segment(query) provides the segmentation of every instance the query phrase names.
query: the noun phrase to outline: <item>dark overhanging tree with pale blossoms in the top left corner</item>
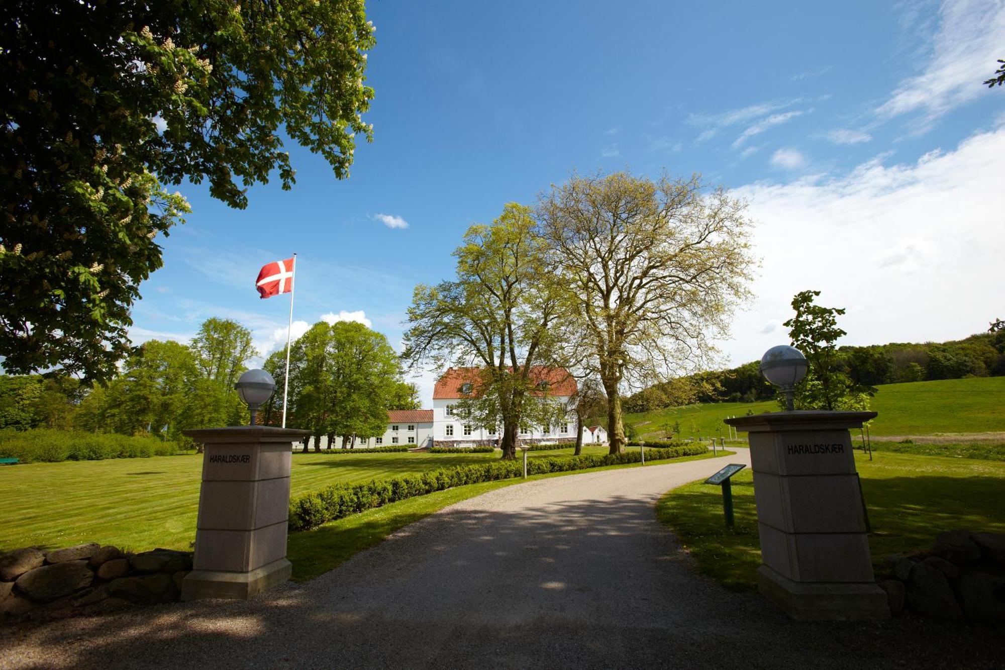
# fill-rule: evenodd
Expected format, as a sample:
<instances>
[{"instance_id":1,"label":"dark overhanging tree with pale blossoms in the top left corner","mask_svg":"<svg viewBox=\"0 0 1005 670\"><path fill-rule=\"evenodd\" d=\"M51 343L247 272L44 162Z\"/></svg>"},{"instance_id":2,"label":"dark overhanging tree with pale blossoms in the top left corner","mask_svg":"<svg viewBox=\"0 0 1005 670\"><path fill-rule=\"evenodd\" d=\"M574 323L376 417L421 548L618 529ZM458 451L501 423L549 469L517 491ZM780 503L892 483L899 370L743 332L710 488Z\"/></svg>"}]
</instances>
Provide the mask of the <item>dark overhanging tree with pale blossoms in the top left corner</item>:
<instances>
[{"instance_id":1,"label":"dark overhanging tree with pale blossoms in the top left corner","mask_svg":"<svg viewBox=\"0 0 1005 670\"><path fill-rule=\"evenodd\" d=\"M286 135L349 175L374 45L363 0L0 3L0 356L109 379L157 239L209 182L230 206Z\"/></svg>"}]
</instances>

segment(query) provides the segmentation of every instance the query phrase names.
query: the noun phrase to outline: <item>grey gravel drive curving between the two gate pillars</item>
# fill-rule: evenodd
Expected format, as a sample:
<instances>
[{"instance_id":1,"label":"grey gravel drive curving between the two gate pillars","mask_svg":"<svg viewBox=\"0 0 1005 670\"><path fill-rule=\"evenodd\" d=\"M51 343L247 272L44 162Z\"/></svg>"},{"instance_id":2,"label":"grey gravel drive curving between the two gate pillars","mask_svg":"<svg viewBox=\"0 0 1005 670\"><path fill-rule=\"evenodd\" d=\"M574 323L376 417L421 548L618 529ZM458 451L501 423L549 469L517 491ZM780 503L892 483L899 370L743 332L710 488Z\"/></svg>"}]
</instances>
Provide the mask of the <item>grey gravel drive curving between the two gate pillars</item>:
<instances>
[{"instance_id":1,"label":"grey gravel drive curving between the two gate pillars","mask_svg":"<svg viewBox=\"0 0 1005 670\"><path fill-rule=\"evenodd\" d=\"M2 668L1005 667L1000 631L791 622L696 575L653 503L735 456L511 486L306 584L8 631Z\"/></svg>"}]
</instances>

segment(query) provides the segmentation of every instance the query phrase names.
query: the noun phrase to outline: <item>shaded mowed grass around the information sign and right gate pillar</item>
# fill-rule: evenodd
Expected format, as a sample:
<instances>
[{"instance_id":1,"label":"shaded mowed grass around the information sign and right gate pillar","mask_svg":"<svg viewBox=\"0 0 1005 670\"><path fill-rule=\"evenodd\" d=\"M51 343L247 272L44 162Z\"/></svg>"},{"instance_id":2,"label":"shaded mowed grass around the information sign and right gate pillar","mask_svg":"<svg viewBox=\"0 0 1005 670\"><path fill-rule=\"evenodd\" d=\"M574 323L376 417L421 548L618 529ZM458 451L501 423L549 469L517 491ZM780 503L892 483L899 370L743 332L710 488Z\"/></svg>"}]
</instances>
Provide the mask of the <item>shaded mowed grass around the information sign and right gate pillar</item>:
<instances>
[{"instance_id":1,"label":"shaded mowed grass around the information sign and right gate pillar","mask_svg":"<svg viewBox=\"0 0 1005 670\"><path fill-rule=\"evenodd\" d=\"M1005 532L1005 463L876 452L855 455L869 521L872 562L891 553L929 548L944 530ZM754 481L750 469L733 477L736 524L726 527L719 486L693 482L656 506L694 557L697 568L735 591L757 585L761 564Z\"/></svg>"}]
</instances>

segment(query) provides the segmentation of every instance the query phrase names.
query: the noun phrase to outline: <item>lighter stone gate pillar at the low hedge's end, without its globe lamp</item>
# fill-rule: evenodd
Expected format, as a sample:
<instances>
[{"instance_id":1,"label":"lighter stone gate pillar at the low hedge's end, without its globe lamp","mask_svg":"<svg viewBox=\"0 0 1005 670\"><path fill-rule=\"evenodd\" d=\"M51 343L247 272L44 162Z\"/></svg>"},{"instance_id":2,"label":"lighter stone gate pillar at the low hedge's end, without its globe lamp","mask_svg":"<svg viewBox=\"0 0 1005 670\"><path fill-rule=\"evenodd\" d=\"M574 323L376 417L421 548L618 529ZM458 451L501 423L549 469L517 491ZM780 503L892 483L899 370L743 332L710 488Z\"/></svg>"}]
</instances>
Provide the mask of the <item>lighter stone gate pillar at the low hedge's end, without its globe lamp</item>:
<instances>
[{"instance_id":1,"label":"lighter stone gate pillar at the low hedge's end, without its globe lamp","mask_svg":"<svg viewBox=\"0 0 1005 670\"><path fill-rule=\"evenodd\" d=\"M247 600L289 578L286 520L292 443L270 426L184 431L205 445L193 569L182 600Z\"/></svg>"}]
</instances>

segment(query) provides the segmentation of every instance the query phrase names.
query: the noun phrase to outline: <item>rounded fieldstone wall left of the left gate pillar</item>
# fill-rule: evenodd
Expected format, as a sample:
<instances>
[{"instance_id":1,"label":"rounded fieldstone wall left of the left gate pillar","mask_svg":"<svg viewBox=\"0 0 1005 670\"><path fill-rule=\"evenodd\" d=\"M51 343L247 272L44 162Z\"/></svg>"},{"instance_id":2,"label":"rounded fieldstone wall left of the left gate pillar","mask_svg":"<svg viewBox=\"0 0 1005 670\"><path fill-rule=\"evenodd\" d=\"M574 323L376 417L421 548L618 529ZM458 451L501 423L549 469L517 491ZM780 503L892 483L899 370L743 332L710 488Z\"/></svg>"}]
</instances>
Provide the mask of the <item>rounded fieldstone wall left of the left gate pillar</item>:
<instances>
[{"instance_id":1,"label":"rounded fieldstone wall left of the left gate pillar","mask_svg":"<svg viewBox=\"0 0 1005 670\"><path fill-rule=\"evenodd\" d=\"M134 604L179 600L192 553L154 549L126 553L96 543L0 555L0 614L65 617Z\"/></svg>"}]
</instances>

